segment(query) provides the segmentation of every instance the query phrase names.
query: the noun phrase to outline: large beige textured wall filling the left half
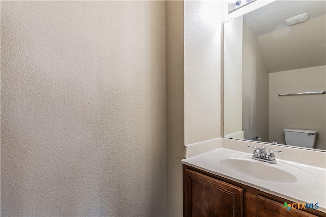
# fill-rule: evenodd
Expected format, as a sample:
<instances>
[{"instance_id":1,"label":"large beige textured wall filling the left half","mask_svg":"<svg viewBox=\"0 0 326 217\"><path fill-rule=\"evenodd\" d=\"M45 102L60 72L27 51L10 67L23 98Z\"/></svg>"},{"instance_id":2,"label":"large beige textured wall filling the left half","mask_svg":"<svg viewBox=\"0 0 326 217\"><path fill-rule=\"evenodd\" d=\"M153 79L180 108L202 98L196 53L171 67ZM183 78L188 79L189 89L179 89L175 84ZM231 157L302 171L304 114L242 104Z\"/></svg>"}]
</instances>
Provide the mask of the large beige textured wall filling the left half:
<instances>
[{"instance_id":1,"label":"large beige textured wall filling the left half","mask_svg":"<svg viewBox=\"0 0 326 217\"><path fill-rule=\"evenodd\" d=\"M1 214L166 216L164 1L1 1Z\"/></svg>"}]
</instances>

